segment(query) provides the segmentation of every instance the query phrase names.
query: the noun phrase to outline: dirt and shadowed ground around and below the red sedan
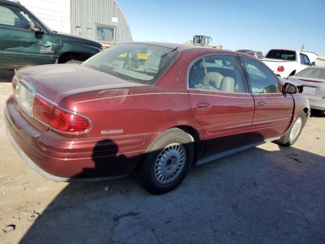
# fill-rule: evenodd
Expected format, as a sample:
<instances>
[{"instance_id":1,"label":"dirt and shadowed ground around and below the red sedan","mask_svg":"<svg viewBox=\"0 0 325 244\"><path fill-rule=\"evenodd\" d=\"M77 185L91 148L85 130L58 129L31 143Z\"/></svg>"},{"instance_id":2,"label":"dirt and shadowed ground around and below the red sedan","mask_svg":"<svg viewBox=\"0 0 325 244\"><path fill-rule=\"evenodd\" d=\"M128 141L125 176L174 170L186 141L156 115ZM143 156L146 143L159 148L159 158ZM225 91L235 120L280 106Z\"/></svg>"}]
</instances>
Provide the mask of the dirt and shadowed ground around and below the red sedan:
<instances>
[{"instance_id":1,"label":"dirt and shadowed ground around and below the red sedan","mask_svg":"<svg viewBox=\"0 0 325 244\"><path fill-rule=\"evenodd\" d=\"M131 177L68 184L30 169L4 131L11 77L0 71L0 243L325 243L324 115L292 147L196 167L153 196Z\"/></svg>"}]
</instances>

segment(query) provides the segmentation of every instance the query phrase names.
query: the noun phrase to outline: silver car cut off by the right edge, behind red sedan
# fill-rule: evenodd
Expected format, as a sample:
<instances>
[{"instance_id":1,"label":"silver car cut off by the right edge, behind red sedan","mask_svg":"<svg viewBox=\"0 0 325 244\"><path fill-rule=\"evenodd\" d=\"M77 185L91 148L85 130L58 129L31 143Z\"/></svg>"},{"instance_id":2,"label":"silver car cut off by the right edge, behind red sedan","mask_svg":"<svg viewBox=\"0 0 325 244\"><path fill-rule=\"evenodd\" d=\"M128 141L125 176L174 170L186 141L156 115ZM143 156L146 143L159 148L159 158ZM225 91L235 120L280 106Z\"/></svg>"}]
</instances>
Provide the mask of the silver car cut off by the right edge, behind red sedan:
<instances>
[{"instance_id":1,"label":"silver car cut off by the right edge, behind red sedan","mask_svg":"<svg viewBox=\"0 0 325 244\"><path fill-rule=\"evenodd\" d=\"M303 93L308 97L310 108L325 110L325 67L308 67L287 78L304 85Z\"/></svg>"}]
</instances>

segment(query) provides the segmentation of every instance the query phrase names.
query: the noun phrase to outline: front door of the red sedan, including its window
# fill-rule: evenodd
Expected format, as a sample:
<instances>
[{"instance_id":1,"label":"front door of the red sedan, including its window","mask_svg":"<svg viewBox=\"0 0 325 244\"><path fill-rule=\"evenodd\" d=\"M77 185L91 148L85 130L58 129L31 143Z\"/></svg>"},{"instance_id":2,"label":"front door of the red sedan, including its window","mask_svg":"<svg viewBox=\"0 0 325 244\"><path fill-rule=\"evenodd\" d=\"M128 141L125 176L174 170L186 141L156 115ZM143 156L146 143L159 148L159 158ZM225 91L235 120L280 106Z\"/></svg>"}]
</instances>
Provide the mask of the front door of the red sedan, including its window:
<instances>
[{"instance_id":1,"label":"front door of the red sedan, including its window","mask_svg":"<svg viewBox=\"0 0 325 244\"><path fill-rule=\"evenodd\" d=\"M281 136L293 117L293 97L280 92L277 77L263 63L244 56L240 59L255 102L253 123L246 143L254 144Z\"/></svg>"}]
</instances>

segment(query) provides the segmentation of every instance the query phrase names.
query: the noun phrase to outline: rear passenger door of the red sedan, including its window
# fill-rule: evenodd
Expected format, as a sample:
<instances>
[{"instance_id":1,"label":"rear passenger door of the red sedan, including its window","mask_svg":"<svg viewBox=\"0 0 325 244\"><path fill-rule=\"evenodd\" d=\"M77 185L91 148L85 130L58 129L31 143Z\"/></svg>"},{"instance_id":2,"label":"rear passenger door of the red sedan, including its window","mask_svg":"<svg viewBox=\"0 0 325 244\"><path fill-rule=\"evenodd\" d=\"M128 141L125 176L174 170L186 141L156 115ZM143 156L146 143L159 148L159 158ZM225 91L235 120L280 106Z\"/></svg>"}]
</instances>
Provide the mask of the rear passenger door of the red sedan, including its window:
<instances>
[{"instance_id":1,"label":"rear passenger door of the red sedan, including its window","mask_svg":"<svg viewBox=\"0 0 325 244\"><path fill-rule=\"evenodd\" d=\"M188 93L194 119L204 129L204 156L240 147L252 124L254 100L237 55L206 55L188 73Z\"/></svg>"}]
</instances>

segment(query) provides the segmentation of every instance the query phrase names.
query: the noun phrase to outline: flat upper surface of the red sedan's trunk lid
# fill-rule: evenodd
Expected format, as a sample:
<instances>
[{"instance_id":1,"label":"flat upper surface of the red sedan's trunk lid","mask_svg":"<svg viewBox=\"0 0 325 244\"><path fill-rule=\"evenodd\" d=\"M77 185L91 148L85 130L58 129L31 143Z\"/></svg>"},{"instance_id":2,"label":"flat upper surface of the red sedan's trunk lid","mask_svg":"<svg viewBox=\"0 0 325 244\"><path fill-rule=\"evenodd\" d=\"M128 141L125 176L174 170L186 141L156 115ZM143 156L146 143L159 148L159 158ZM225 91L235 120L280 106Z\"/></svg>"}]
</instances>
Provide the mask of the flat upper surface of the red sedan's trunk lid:
<instances>
[{"instance_id":1,"label":"flat upper surface of the red sedan's trunk lid","mask_svg":"<svg viewBox=\"0 0 325 244\"><path fill-rule=\"evenodd\" d=\"M75 94L145 85L75 64L31 67L19 73L39 94L56 104Z\"/></svg>"}]
</instances>

